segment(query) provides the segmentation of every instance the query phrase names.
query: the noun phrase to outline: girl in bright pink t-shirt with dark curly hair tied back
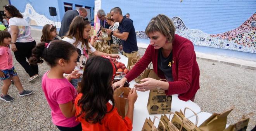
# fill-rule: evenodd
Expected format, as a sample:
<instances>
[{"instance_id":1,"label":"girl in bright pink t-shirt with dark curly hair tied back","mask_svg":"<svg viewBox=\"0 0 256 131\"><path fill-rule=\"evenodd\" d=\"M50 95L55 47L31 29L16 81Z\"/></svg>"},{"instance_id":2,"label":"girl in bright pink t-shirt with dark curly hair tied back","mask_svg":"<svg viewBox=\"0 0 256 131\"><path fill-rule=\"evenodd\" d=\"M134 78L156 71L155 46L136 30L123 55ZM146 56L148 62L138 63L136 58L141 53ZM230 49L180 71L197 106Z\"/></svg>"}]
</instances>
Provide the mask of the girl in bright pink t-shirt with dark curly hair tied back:
<instances>
[{"instance_id":1,"label":"girl in bright pink t-shirt with dark curly hair tied back","mask_svg":"<svg viewBox=\"0 0 256 131\"><path fill-rule=\"evenodd\" d=\"M42 77L42 89L50 106L52 123L61 131L81 131L81 123L76 122L76 109L74 100L78 92L72 84L63 76L74 74L71 79L77 79L76 59L78 53L76 47L63 40L52 40L50 43L41 42L32 50L31 64L43 63L44 59L50 65Z\"/></svg>"}]
</instances>

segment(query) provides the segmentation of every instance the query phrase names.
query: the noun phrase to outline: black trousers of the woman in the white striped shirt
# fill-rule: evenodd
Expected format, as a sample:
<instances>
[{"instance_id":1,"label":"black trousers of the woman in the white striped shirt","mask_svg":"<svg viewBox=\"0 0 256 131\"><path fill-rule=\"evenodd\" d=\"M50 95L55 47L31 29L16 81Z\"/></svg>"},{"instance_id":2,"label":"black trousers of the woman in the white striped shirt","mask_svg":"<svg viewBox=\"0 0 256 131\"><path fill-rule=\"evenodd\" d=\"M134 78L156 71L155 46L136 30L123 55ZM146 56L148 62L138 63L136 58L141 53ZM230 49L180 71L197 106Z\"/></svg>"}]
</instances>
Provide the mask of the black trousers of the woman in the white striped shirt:
<instances>
[{"instance_id":1,"label":"black trousers of the woman in the white striped shirt","mask_svg":"<svg viewBox=\"0 0 256 131\"><path fill-rule=\"evenodd\" d=\"M30 65L27 62L27 59L32 55L32 49L36 46L36 41L32 42L16 42L17 51L14 52L16 60L21 64L21 66L25 69L25 71L29 74L30 77L38 74L38 66Z\"/></svg>"}]
</instances>

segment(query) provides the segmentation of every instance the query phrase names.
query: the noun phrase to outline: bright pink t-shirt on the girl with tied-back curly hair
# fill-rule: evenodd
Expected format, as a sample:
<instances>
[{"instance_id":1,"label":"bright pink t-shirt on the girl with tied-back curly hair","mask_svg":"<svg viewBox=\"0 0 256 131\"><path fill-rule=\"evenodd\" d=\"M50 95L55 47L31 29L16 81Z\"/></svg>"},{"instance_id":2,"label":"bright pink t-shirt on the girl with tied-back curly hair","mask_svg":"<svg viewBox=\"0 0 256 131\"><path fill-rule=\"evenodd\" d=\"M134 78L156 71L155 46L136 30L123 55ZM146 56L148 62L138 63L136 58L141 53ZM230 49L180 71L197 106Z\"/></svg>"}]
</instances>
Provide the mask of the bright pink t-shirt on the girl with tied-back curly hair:
<instances>
[{"instance_id":1,"label":"bright pink t-shirt on the girl with tied-back curly hair","mask_svg":"<svg viewBox=\"0 0 256 131\"><path fill-rule=\"evenodd\" d=\"M74 86L66 79L50 79L47 77L47 71L42 78L42 89L52 111L52 123L57 126L74 127L80 122L76 122L76 117L66 118L59 107L59 104L65 104L74 100L77 96L77 91Z\"/></svg>"}]
</instances>

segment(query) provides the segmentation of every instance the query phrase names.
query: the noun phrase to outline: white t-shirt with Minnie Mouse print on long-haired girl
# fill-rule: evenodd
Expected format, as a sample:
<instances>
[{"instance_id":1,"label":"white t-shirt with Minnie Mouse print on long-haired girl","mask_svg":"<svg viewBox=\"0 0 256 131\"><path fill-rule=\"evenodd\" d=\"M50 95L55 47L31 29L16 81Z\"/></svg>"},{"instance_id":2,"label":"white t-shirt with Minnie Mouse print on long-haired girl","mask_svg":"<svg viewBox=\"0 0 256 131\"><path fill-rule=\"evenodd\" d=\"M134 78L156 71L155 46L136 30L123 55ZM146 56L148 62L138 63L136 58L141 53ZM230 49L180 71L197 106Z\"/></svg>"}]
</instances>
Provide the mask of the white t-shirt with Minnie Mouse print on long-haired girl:
<instances>
[{"instance_id":1,"label":"white t-shirt with Minnie Mouse print on long-haired girl","mask_svg":"<svg viewBox=\"0 0 256 131\"><path fill-rule=\"evenodd\" d=\"M68 38L68 37L64 37L62 40L69 42L70 44L74 44L74 42L76 41L76 38ZM86 61L89 58L88 52L93 53L96 51L95 48L92 47L92 45L89 43L88 44L90 49L87 49L86 46L84 46L82 48L82 42L80 42L77 46L77 52L78 52L78 59L77 59L77 66L75 67L74 70L79 70L79 73L83 74L83 70L86 64Z\"/></svg>"}]
</instances>

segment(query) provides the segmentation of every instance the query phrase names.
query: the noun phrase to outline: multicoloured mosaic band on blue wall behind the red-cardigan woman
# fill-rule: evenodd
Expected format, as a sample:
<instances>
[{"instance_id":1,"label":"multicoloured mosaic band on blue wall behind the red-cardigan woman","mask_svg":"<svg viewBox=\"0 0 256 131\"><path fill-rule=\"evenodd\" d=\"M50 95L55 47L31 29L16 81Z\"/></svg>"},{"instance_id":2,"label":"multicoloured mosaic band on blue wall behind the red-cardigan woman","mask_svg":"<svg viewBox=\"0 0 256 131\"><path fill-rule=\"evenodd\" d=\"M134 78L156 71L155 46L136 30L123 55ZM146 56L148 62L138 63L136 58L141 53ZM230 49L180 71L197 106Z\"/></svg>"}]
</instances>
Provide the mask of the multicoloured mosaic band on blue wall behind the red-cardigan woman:
<instances>
[{"instance_id":1,"label":"multicoloured mosaic band on blue wall behind the red-cardigan woman","mask_svg":"<svg viewBox=\"0 0 256 131\"><path fill-rule=\"evenodd\" d=\"M222 34L206 34L201 30L188 29L179 17L171 18L175 34L185 37L194 45L256 53L256 13L239 27ZM136 31L137 38L149 39L144 31Z\"/></svg>"}]
</instances>

